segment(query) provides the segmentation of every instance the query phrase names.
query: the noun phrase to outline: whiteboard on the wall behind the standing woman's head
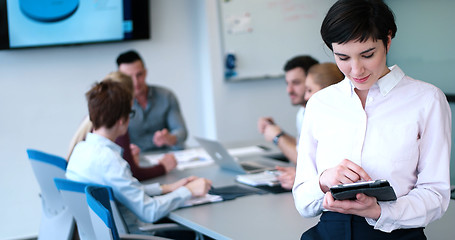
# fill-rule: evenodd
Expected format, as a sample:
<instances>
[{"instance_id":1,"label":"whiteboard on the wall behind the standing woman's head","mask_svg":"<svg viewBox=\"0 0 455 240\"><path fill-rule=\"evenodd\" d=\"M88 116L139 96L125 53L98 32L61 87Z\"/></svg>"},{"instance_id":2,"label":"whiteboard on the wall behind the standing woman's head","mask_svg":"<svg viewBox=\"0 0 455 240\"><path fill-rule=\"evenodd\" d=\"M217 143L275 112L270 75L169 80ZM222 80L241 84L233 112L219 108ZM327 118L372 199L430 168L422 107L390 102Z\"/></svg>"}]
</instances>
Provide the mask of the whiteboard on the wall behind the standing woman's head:
<instances>
[{"instance_id":1,"label":"whiteboard on the wall behind the standing woman's head","mask_svg":"<svg viewBox=\"0 0 455 240\"><path fill-rule=\"evenodd\" d=\"M229 81L280 78L290 58L308 54L333 62L322 41L322 20L335 0L224 0L220 24L224 57L235 56L226 69Z\"/></svg>"}]
</instances>

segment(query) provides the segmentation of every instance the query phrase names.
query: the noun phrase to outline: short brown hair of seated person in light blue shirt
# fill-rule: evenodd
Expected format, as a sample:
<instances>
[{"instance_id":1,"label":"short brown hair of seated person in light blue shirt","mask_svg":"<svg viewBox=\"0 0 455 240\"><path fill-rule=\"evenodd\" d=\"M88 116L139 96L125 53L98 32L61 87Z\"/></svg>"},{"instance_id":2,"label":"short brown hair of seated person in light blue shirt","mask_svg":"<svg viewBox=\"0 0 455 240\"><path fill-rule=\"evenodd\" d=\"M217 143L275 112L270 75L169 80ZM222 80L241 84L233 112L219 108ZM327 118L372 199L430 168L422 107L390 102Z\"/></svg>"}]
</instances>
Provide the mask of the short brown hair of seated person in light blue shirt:
<instances>
[{"instance_id":1,"label":"short brown hair of seated person in light blue shirt","mask_svg":"<svg viewBox=\"0 0 455 240\"><path fill-rule=\"evenodd\" d=\"M132 94L121 83L105 79L96 83L86 94L93 128L112 128L121 119L128 119Z\"/></svg>"}]
</instances>

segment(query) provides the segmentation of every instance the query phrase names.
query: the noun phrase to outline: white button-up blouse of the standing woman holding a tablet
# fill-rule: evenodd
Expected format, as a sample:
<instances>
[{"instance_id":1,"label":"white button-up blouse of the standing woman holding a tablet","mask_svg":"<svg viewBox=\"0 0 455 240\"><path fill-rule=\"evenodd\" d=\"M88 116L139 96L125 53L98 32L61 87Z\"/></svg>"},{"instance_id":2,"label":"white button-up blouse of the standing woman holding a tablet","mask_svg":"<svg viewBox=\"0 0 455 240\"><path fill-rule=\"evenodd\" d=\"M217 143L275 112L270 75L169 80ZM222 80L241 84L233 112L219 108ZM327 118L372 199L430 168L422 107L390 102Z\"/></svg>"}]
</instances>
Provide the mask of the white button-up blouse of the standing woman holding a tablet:
<instances>
[{"instance_id":1,"label":"white button-up blouse of the standing woman holding a tablet","mask_svg":"<svg viewBox=\"0 0 455 240\"><path fill-rule=\"evenodd\" d=\"M424 227L450 201L451 112L444 93L393 66L368 93L365 109L350 80L315 93L300 135L295 205L319 215L320 174L349 159L372 179L387 179L398 197L379 202L381 216L367 222L385 232Z\"/></svg>"}]
</instances>

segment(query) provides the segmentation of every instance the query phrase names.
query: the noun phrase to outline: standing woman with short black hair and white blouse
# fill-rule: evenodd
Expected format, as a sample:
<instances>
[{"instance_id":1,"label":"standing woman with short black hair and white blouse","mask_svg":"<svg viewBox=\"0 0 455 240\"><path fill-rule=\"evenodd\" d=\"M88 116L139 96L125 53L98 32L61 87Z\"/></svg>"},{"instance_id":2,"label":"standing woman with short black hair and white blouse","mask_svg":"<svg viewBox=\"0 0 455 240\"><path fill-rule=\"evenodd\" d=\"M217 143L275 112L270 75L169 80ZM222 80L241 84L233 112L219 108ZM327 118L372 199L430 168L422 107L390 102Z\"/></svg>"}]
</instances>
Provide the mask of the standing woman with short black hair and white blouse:
<instances>
[{"instance_id":1,"label":"standing woman with short black hair and white blouse","mask_svg":"<svg viewBox=\"0 0 455 240\"><path fill-rule=\"evenodd\" d=\"M321 35L345 79L308 101L300 138L295 204L322 213L302 239L426 239L423 228L450 201L451 113L444 93L387 67L397 27L381 0L339 0ZM330 187L386 179L395 201Z\"/></svg>"}]
</instances>

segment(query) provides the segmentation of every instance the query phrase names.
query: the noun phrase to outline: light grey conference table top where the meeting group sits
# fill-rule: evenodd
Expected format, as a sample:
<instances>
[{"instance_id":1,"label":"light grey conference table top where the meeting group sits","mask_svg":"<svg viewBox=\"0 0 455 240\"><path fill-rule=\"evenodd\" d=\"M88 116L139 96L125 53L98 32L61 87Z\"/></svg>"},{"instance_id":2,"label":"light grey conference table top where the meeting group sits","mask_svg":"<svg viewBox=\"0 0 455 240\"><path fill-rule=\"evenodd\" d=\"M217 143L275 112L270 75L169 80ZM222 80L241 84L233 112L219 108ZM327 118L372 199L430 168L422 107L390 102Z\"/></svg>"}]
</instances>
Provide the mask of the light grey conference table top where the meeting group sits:
<instances>
[{"instance_id":1,"label":"light grey conference table top where the meeting group sits","mask_svg":"<svg viewBox=\"0 0 455 240\"><path fill-rule=\"evenodd\" d=\"M276 156L273 147L269 156ZM283 165L282 161L272 160ZM216 164L173 170L153 182L171 183L187 176L212 180L213 187L239 185L237 173L221 169ZM147 183L144 182L144 183ZM295 209L292 193L248 195L233 200L177 209L169 214L173 221L214 239L300 239L300 235L316 225L319 217L303 218ZM442 219L425 229L428 239L451 239L455 236L455 201L451 200Z\"/></svg>"}]
</instances>

